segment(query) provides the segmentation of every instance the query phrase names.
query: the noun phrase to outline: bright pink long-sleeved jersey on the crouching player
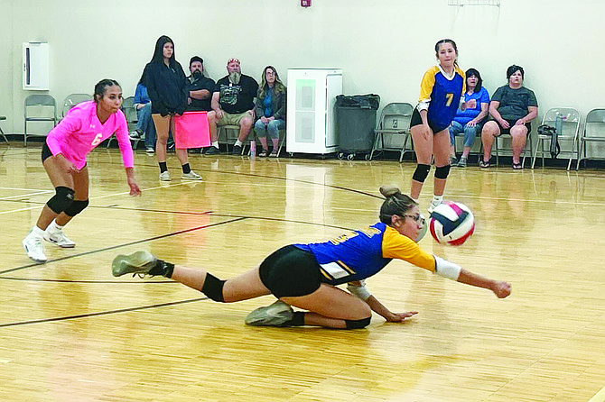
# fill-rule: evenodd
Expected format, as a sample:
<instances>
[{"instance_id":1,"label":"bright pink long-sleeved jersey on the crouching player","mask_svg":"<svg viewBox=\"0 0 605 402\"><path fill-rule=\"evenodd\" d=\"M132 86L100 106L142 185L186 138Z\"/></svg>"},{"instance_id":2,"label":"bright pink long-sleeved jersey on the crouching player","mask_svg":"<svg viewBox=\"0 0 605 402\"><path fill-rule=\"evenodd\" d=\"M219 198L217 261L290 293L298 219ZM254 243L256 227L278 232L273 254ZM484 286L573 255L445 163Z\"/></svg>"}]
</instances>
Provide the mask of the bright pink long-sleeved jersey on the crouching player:
<instances>
[{"instance_id":1,"label":"bright pink long-sleeved jersey on the crouching player","mask_svg":"<svg viewBox=\"0 0 605 402\"><path fill-rule=\"evenodd\" d=\"M82 169L86 165L88 153L103 140L111 137L114 132L122 152L124 166L133 168L133 149L130 146L124 113L118 110L109 116L107 122L101 124L97 116L97 104L94 101L73 106L61 123L49 132L46 143L52 155L62 153L76 169Z\"/></svg>"}]
</instances>

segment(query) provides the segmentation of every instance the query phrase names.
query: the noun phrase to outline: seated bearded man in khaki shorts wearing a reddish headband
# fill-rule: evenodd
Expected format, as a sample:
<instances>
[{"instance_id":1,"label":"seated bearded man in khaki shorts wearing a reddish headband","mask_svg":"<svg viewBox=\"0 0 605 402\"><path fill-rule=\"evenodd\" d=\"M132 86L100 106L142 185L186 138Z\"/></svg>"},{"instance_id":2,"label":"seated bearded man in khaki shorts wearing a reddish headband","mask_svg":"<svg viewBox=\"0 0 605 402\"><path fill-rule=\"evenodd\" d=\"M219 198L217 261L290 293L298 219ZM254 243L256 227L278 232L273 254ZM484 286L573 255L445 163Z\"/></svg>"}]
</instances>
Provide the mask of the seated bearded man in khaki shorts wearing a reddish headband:
<instances>
[{"instance_id":1,"label":"seated bearded man in khaki shorts wearing a reddish headband","mask_svg":"<svg viewBox=\"0 0 605 402\"><path fill-rule=\"evenodd\" d=\"M228 60L227 71L228 76L220 78L214 88L211 105L216 115L214 119L209 119L209 124L239 126L239 135L233 146L233 154L237 155L241 153L242 145L254 123L254 98L258 93L258 83L254 78L242 74L238 59ZM210 140L217 141L214 138Z\"/></svg>"}]
</instances>

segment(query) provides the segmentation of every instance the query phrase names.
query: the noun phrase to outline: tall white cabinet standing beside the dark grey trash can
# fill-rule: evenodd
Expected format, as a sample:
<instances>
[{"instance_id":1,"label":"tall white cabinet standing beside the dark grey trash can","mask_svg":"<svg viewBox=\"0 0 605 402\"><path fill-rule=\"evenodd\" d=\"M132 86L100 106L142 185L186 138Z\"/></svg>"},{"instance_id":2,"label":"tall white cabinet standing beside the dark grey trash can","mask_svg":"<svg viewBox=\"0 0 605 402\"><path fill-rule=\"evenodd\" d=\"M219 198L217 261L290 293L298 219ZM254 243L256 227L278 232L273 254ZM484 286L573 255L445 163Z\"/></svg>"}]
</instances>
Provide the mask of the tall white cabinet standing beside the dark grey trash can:
<instances>
[{"instance_id":1,"label":"tall white cabinet standing beside the dark grey trash can","mask_svg":"<svg viewBox=\"0 0 605 402\"><path fill-rule=\"evenodd\" d=\"M286 151L338 151L334 104L342 94L342 69L288 69L287 82Z\"/></svg>"}]
</instances>

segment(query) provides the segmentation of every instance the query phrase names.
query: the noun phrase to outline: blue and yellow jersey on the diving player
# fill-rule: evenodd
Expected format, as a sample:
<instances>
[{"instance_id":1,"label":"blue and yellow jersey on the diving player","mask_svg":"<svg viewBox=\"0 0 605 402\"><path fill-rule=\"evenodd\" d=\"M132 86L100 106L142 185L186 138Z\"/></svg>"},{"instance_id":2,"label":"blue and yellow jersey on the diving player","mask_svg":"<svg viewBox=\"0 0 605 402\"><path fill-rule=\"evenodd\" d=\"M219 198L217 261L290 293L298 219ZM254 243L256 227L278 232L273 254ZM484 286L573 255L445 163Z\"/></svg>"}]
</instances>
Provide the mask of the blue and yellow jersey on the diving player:
<instances>
[{"instance_id":1,"label":"blue and yellow jersey on the diving player","mask_svg":"<svg viewBox=\"0 0 605 402\"><path fill-rule=\"evenodd\" d=\"M386 224L345 233L328 242L294 244L310 251L320 265L323 282L330 285L371 277L391 260L405 260L424 270L435 270L433 255Z\"/></svg>"}]
</instances>

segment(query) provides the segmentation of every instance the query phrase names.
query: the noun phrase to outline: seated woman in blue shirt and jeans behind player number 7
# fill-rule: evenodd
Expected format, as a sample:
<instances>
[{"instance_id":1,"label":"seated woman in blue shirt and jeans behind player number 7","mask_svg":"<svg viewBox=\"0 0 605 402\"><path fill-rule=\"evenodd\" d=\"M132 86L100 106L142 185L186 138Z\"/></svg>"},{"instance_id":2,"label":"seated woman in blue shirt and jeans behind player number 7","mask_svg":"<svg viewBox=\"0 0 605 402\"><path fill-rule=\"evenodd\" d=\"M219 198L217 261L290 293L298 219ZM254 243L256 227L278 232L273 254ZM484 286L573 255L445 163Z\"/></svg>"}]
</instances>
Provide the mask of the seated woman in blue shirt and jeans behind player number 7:
<instances>
[{"instance_id":1,"label":"seated woman in blue shirt and jeans behind player number 7","mask_svg":"<svg viewBox=\"0 0 605 402\"><path fill-rule=\"evenodd\" d=\"M475 136L481 132L483 120L488 117L489 94L488 90L482 86L483 80L479 71L476 69L467 69L464 73L466 76L466 92L464 93L464 101L476 99L477 105L473 108L467 107L464 111L458 109L453 122L450 124L450 143L451 143L451 165L458 164L459 168L466 168L469 152L472 144L475 142ZM456 162L456 149L454 143L456 134L464 132L464 151L458 162Z\"/></svg>"}]
</instances>

